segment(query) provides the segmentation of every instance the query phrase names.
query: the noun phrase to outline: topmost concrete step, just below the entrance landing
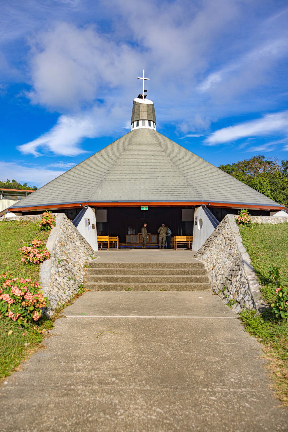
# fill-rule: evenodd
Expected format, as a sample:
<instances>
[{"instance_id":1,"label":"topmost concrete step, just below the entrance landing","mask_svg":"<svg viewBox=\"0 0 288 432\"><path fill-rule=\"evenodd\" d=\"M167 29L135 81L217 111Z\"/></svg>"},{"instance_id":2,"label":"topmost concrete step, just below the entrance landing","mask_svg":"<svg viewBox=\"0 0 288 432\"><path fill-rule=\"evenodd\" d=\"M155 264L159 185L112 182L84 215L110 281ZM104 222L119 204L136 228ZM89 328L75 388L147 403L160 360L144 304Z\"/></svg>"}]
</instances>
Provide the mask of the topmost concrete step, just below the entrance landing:
<instances>
[{"instance_id":1,"label":"topmost concrete step, just below the entrance landing","mask_svg":"<svg viewBox=\"0 0 288 432\"><path fill-rule=\"evenodd\" d=\"M90 268L122 268L122 269L203 269L204 263L101 263L100 260L89 261Z\"/></svg>"}]
</instances>

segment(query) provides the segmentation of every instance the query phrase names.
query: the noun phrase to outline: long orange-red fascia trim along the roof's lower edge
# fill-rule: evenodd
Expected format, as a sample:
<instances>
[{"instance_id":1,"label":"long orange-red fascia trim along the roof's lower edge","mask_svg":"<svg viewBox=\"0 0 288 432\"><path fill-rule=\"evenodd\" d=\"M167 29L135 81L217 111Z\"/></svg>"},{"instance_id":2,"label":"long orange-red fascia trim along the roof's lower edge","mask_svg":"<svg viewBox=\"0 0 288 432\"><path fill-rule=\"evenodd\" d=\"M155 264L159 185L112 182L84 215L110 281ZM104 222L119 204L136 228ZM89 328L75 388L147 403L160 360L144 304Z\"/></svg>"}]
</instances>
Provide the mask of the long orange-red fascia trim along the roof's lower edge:
<instances>
[{"instance_id":1,"label":"long orange-red fascia trim along the roof's lower edge","mask_svg":"<svg viewBox=\"0 0 288 432\"><path fill-rule=\"evenodd\" d=\"M56 206L51 206L49 207L49 205L46 206L35 206L35 207L17 207L17 208L9 208L8 210L10 211L14 211L14 212L19 212L19 211L37 211L37 210L60 210L60 209L77 209L79 207L84 207L85 205L88 205L90 207L138 207L138 206L160 206L160 207L182 207L182 206L189 206L189 207L193 207L193 206L200 206L201 204L205 204L208 208L209 207L222 207L222 208L228 208L228 209L243 209L244 207L247 209L251 209L251 210L265 210L265 211L273 211L273 210L288 210L285 206L259 206L259 205L244 205L244 204L230 204L230 203L209 203L208 205L208 201L182 201L182 202L139 202L139 203L131 203L131 202L127 202L127 203L123 203L123 202L110 202L110 203L71 203L71 204L58 204Z\"/></svg>"}]
</instances>

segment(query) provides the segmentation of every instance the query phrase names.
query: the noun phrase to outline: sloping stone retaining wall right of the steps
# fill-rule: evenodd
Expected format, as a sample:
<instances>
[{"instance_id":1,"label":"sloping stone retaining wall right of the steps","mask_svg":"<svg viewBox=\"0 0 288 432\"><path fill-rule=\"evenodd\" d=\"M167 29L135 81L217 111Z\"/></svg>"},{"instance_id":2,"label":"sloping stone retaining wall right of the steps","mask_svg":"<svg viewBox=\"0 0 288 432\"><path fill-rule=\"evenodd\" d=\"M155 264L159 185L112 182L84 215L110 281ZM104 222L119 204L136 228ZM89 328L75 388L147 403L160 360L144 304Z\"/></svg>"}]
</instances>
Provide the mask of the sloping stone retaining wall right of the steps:
<instances>
[{"instance_id":1,"label":"sloping stone retaining wall right of the steps","mask_svg":"<svg viewBox=\"0 0 288 432\"><path fill-rule=\"evenodd\" d=\"M287 217L250 216L252 223L283 223ZM251 266L249 254L242 243L235 215L226 215L195 258L203 260L208 268L212 289L225 303L239 312L266 307L260 299L260 284Z\"/></svg>"}]
</instances>

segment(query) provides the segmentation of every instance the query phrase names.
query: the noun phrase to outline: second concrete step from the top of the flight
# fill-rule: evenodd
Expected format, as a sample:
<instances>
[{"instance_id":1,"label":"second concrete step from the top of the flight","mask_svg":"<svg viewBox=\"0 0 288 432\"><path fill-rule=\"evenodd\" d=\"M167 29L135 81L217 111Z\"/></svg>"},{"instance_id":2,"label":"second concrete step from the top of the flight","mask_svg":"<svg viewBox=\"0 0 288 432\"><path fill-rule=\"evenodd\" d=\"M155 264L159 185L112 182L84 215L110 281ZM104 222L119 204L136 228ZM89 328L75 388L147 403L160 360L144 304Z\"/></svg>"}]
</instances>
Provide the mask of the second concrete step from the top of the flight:
<instances>
[{"instance_id":1,"label":"second concrete step from the top of the flight","mask_svg":"<svg viewBox=\"0 0 288 432\"><path fill-rule=\"evenodd\" d=\"M94 276L94 275L128 275L128 276L189 276L189 275L196 275L196 276L202 276L207 274L207 270L205 268L202 269L189 269L189 268L182 268L182 269L171 269L171 268L149 268L149 269L136 269L136 268L90 268L87 269L86 274L88 276Z\"/></svg>"}]
</instances>

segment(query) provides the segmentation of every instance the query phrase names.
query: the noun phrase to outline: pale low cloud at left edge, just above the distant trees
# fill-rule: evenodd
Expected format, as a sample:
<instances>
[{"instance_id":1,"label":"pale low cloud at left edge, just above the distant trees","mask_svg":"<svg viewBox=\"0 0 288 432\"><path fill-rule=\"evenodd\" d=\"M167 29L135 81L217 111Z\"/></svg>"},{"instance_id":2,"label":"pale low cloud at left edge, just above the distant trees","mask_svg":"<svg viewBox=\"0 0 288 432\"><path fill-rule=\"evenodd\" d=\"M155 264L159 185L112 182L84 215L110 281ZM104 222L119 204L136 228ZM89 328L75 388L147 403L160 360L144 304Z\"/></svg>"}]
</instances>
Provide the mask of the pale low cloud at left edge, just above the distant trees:
<instances>
[{"instance_id":1,"label":"pale low cloud at left edge, just above the distant trees","mask_svg":"<svg viewBox=\"0 0 288 432\"><path fill-rule=\"evenodd\" d=\"M0 161L1 181L6 181L6 178L15 179L19 183L27 183L28 186L41 187L48 181L53 180L62 171L54 171L46 168L41 168L33 165L21 165L17 162L1 162Z\"/></svg>"}]
</instances>

